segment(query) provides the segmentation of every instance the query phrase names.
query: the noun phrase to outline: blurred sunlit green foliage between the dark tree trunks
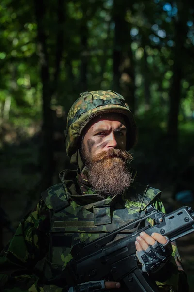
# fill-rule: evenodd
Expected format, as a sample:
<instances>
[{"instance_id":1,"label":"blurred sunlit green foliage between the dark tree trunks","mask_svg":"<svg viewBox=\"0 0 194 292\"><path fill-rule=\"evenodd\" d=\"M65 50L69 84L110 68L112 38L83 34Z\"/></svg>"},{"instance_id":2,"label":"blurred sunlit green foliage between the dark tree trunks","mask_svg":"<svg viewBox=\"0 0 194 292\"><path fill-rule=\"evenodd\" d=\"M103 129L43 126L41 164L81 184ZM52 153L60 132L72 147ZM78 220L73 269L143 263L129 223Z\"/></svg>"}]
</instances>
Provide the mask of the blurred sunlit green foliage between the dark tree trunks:
<instances>
[{"instance_id":1,"label":"blurred sunlit green foliage between the dark tree trunks","mask_svg":"<svg viewBox=\"0 0 194 292\"><path fill-rule=\"evenodd\" d=\"M122 1L121 1L122 2ZM67 1L61 39L65 41L60 62L57 91L51 104L63 105L67 111L80 91L83 59L87 62L88 90L113 87L114 28L112 0ZM147 108L158 111L167 121L169 90L173 77L175 43L174 22L181 18L181 1L130 1L126 5L125 21L129 24L129 45L135 62L135 99L137 115ZM179 6L180 8L178 8ZM185 52L179 52L184 70L181 82L181 102L178 121L194 118L194 70L192 52L194 23L192 1L184 1L187 15ZM119 9L119 6L118 6ZM81 44L83 27L87 27L87 46ZM57 3L48 1L43 21L47 36L49 72L54 70L56 54ZM181 33L181 32L180 32ZM39 74L37 23L34 2L2 0L0 3L0 116L23 125L40 120L42 110L42 80ZM146 65L145 65L146 63ZM145 67L146 66L146 67ZM145 70L146 69L146 70ZM146 86L149 88L146 100ZM162 112L161 112L162 109ZM157 121L156 121L157 122ZM161 121L162 123L162 121Z\"/></svg>"}]
</instances>

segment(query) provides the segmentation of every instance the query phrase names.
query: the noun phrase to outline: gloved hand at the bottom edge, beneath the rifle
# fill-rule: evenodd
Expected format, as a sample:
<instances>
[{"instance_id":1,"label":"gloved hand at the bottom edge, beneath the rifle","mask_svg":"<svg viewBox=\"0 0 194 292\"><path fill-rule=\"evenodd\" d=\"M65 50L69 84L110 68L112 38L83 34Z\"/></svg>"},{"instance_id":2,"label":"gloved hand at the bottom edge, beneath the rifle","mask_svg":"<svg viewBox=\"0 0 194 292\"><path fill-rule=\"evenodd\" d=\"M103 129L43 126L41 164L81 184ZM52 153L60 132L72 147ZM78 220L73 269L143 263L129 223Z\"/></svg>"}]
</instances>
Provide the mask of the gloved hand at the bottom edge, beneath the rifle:
<instances>
[{"instance_id":1,"label":"gloved hand at the bottom edge, beneath the rifle","mask_svg":"<svg viewBox=\"0 0 194 292\"><path fill-rule=\"evenodd\" d=\"M119 282L90 281L70 287L68 292L98 292L105 289L120 288Z\"/></svg>"}]
</instances>

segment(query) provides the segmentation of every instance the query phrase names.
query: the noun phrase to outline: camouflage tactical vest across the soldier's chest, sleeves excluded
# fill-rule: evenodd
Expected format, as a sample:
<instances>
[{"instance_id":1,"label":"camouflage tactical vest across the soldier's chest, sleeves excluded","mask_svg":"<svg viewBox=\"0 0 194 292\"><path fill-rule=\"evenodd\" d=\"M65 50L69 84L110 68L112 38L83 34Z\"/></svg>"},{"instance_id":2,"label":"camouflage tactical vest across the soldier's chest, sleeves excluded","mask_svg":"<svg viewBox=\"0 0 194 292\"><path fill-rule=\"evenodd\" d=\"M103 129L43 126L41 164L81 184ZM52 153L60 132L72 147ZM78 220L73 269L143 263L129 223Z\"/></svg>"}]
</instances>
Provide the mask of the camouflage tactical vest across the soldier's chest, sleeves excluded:
<instances>
[{"instance_id":1,"label":"camouflage tactical vest across the soldier's chest, sleeves excluded","mask_svg":"<svg viewBox=\"0 0 194 292\"><path fill-rule=\"evenodd\" d=\"M59 279L66 264L72 259L70 252L73 245L80 241L91 242L140 218L145 215L151 201L160 195L159 190L148 186L138 185L133 191L142 195L141 202L129 206L127 199L120 197L114 205L95 205L89 209L71 200L62 183L42 193L42 198L49 208L51 226L49 252L44 265L45 284L64 287L65 282ZM139 225L132 230L124 230L118 237L124 237L138 229Z\"/></svg>"}]
</instances>

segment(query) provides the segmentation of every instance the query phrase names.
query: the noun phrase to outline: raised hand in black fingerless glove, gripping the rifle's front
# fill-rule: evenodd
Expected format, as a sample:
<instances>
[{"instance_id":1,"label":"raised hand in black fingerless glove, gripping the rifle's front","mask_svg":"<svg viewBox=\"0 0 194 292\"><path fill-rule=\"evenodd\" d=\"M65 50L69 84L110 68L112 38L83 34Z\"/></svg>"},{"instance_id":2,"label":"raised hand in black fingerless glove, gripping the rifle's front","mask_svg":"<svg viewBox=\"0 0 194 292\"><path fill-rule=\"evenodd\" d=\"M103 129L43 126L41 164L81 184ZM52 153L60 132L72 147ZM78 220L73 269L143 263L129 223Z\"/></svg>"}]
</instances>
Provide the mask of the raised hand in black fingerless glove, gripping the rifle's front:
<instances>
[{"instance_id":1,"label":"raised hand in black fingerless glove, gripping the rifle's front","mask_svg":"<svg viewBox=\"0 0 194 292\"><path fill-rule=\"evenodd\" d=\"M145 232L141 232L136 238L135 245L143 272L155 272L168 261L172 254L170 240L159 233L149 236Z\"/></svg>"}]
</instances>

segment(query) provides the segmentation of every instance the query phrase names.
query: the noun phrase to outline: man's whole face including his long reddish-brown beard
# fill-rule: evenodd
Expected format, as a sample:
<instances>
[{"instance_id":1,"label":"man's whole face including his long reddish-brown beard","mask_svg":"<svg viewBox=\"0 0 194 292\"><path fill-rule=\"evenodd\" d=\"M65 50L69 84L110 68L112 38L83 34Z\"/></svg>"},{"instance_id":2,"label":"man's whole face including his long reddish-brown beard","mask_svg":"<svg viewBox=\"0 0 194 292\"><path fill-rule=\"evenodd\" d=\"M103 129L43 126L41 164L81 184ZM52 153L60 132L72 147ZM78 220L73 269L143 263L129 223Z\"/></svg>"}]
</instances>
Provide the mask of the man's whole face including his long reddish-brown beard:
<instances>
[{"instance_id":1,"label":"man's whole face including his long reddish-brown beard","mask_svg":"<svg viewBox=\"0 0 194 292\"><path fill-rule=\"evenodd\" d=\"M121 195L130 186L127 164L132 155L126 149L127 129L119 114L103 114L93 119L83 132L81 155L88 181L98 196Z\"/></svg>"}]
</instances>

